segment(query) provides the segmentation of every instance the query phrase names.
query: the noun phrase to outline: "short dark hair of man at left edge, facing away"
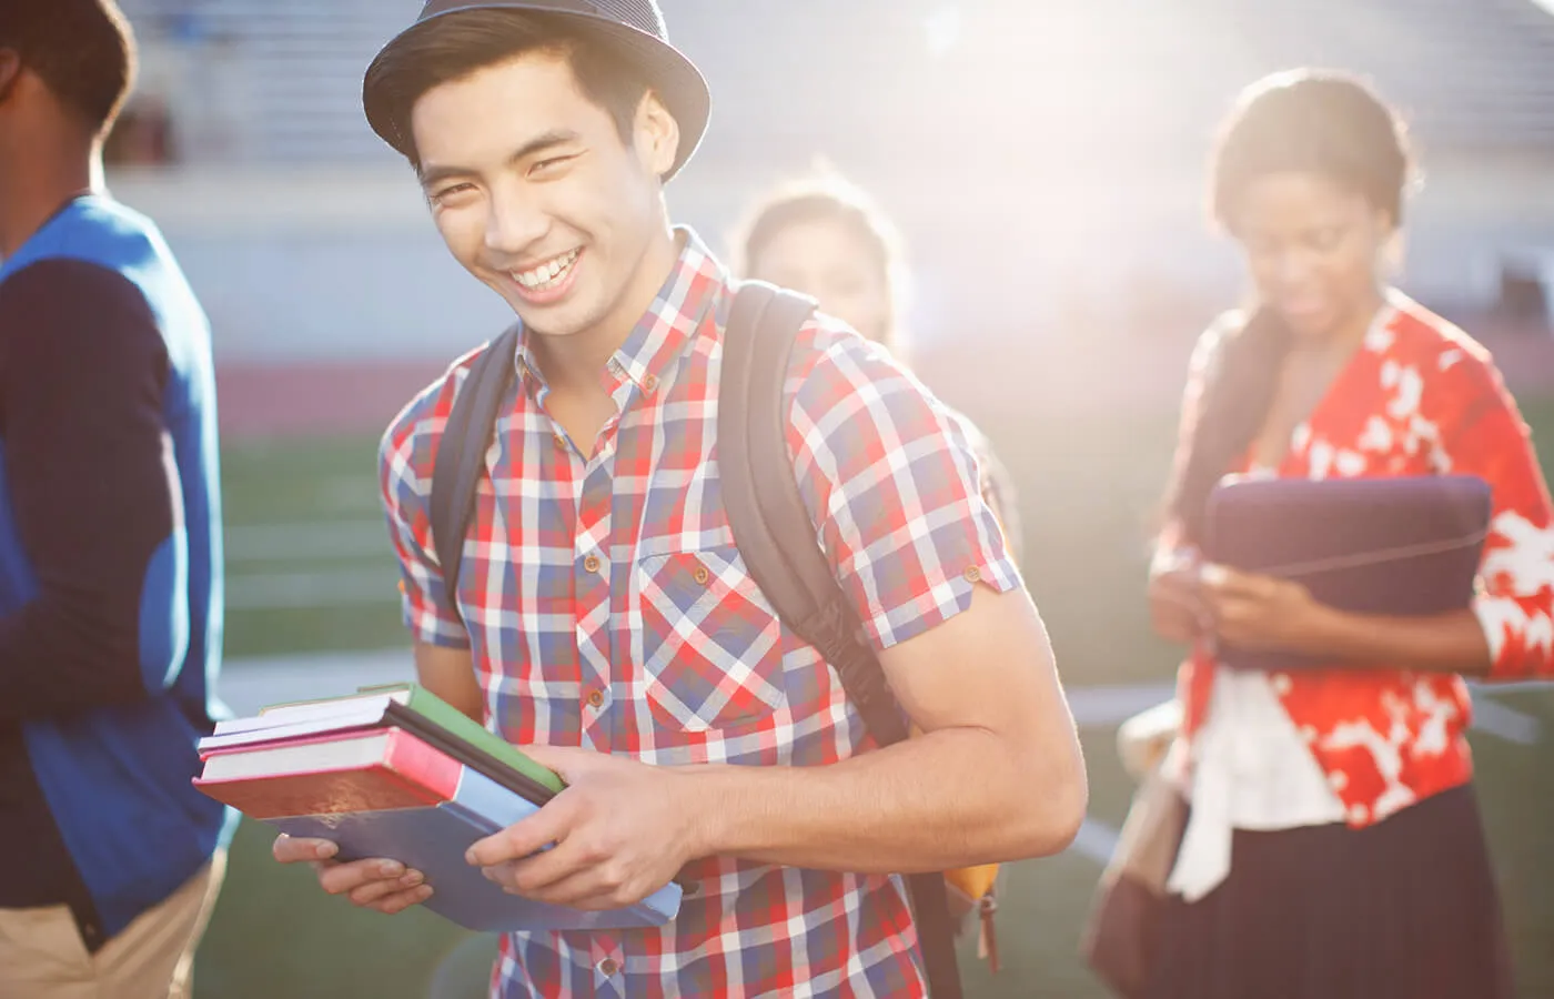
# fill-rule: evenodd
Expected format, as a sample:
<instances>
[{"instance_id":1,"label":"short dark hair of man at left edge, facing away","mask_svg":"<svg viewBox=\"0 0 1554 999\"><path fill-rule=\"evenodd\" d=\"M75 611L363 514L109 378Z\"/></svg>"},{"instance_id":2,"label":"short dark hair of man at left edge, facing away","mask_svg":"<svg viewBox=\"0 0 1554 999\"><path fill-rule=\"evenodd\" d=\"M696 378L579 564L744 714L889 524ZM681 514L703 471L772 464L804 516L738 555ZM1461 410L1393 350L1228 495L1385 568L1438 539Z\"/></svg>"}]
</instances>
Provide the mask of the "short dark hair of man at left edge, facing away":
<instances>
[{"instance_id":1,"label":"short dark hair of man at left edge, facing away","mask_svg":"<svg viewBox=\"0 0 1554 999\"><path fill-rule=\"evenodd\" d=\"M0 48L101 137L135 79L135 36L113 0L3 0Z\"/></svg>"}]
</instances>

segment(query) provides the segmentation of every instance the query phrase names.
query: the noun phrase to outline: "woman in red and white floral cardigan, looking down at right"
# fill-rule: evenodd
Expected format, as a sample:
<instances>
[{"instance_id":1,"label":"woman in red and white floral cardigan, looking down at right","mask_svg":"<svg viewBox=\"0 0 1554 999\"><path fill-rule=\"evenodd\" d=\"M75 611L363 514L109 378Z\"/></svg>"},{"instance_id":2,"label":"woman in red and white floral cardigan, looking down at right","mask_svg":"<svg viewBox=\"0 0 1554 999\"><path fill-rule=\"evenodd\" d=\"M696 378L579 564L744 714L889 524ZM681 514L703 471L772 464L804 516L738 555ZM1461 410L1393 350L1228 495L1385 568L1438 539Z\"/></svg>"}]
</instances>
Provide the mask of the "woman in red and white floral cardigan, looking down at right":
<instances>
[{"instance_id":1,"label":"woman in red and white floral cardigan, looking down at right","mask_svg":"<svg viewBox=\"0 0 1554 999\"><path fill-rule=\"evenodd\" d=\"M1551 673L1554 531L1489 354L1388 287L1409 172L1392 113L1340 75L1254 85L1217 149L1214 211L1256 306L1195 351L1150 580L1155 628L1192 645L1166 761L1190 811L1152 999L1512 994L1462 677ZM1386 618L1203 566L1226 472L1478 475L1493 489L1481 592ZM1350 665L1232 671L1215 639Z\"/></svg>"}]
</instances>

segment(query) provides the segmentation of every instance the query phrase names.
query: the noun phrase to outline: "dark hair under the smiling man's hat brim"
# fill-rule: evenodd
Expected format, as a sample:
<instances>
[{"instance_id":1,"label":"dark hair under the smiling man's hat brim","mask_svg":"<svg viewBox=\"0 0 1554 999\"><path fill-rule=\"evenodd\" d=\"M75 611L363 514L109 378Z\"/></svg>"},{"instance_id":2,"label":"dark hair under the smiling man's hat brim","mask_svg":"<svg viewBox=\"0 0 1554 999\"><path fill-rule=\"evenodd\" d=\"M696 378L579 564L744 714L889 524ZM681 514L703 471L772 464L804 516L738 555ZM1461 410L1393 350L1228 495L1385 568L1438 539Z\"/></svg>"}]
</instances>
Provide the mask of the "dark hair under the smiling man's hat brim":
<instances>
[{"instance_id":1,"label":"dark hair under the smiling man's hat brim","mask_svg":"<svg viewBox=\"0 0 1554 999\"><path fill-rule=\"evenodd\" d=\"M578 89L609 113L620 140L631 141L646 76L600 37L544 14L502 9L457 11L434 17L378 56L362 82L364 101L388 109L393 146L420 169L410 110L427 90L527 53L566 57Z\"/></svg>"}]
</instances>

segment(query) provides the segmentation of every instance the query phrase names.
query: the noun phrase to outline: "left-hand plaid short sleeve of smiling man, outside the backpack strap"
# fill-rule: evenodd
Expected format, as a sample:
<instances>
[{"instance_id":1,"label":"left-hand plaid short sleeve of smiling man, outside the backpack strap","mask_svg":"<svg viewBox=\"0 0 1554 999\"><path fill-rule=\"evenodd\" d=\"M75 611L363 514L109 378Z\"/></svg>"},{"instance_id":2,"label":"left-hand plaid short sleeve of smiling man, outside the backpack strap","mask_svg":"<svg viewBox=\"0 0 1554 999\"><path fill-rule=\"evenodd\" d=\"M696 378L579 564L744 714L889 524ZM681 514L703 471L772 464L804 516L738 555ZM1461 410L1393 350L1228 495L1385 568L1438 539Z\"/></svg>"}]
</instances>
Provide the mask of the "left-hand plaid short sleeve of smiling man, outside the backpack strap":
<instances>
[{"instance_id":1,"label":"left-hand plaid short sleeve of smiling man, outside the backpack strap","mask_svg":"<svg viewBox=\"0 0 1554 999\"><path fill-rule=\"evenodd\" d=\"M378 472L410 635L423 645L469 648L469 632L452 611L443 583L429 514L435 454L430 427L446 423L452 378L427 388L395 418L378 449ZM438 412L441 419L432 419Z\"/></svg>"}]
</instances>

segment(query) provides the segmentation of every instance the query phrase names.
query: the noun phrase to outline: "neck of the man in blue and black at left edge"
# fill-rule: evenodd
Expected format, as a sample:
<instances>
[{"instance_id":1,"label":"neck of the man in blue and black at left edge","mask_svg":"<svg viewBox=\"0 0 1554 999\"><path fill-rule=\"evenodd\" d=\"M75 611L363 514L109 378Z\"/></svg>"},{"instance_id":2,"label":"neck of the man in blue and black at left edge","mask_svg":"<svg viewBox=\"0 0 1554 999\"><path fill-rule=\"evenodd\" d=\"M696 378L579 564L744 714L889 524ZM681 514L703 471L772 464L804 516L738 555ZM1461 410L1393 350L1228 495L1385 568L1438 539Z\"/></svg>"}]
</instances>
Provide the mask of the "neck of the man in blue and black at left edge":
<instances>
[{"instance_id":1,"label":"neck of the man in blue and black at left edge","mask_svg":"<svg viewBox=\"0 0 1554 999\"><path fill-rule=\"evenodd\" d=\"M0 256L9 258L71 199L104 190L101 146L51 137L6 157L0 180Z\"/></svg>"}]
</instances>

